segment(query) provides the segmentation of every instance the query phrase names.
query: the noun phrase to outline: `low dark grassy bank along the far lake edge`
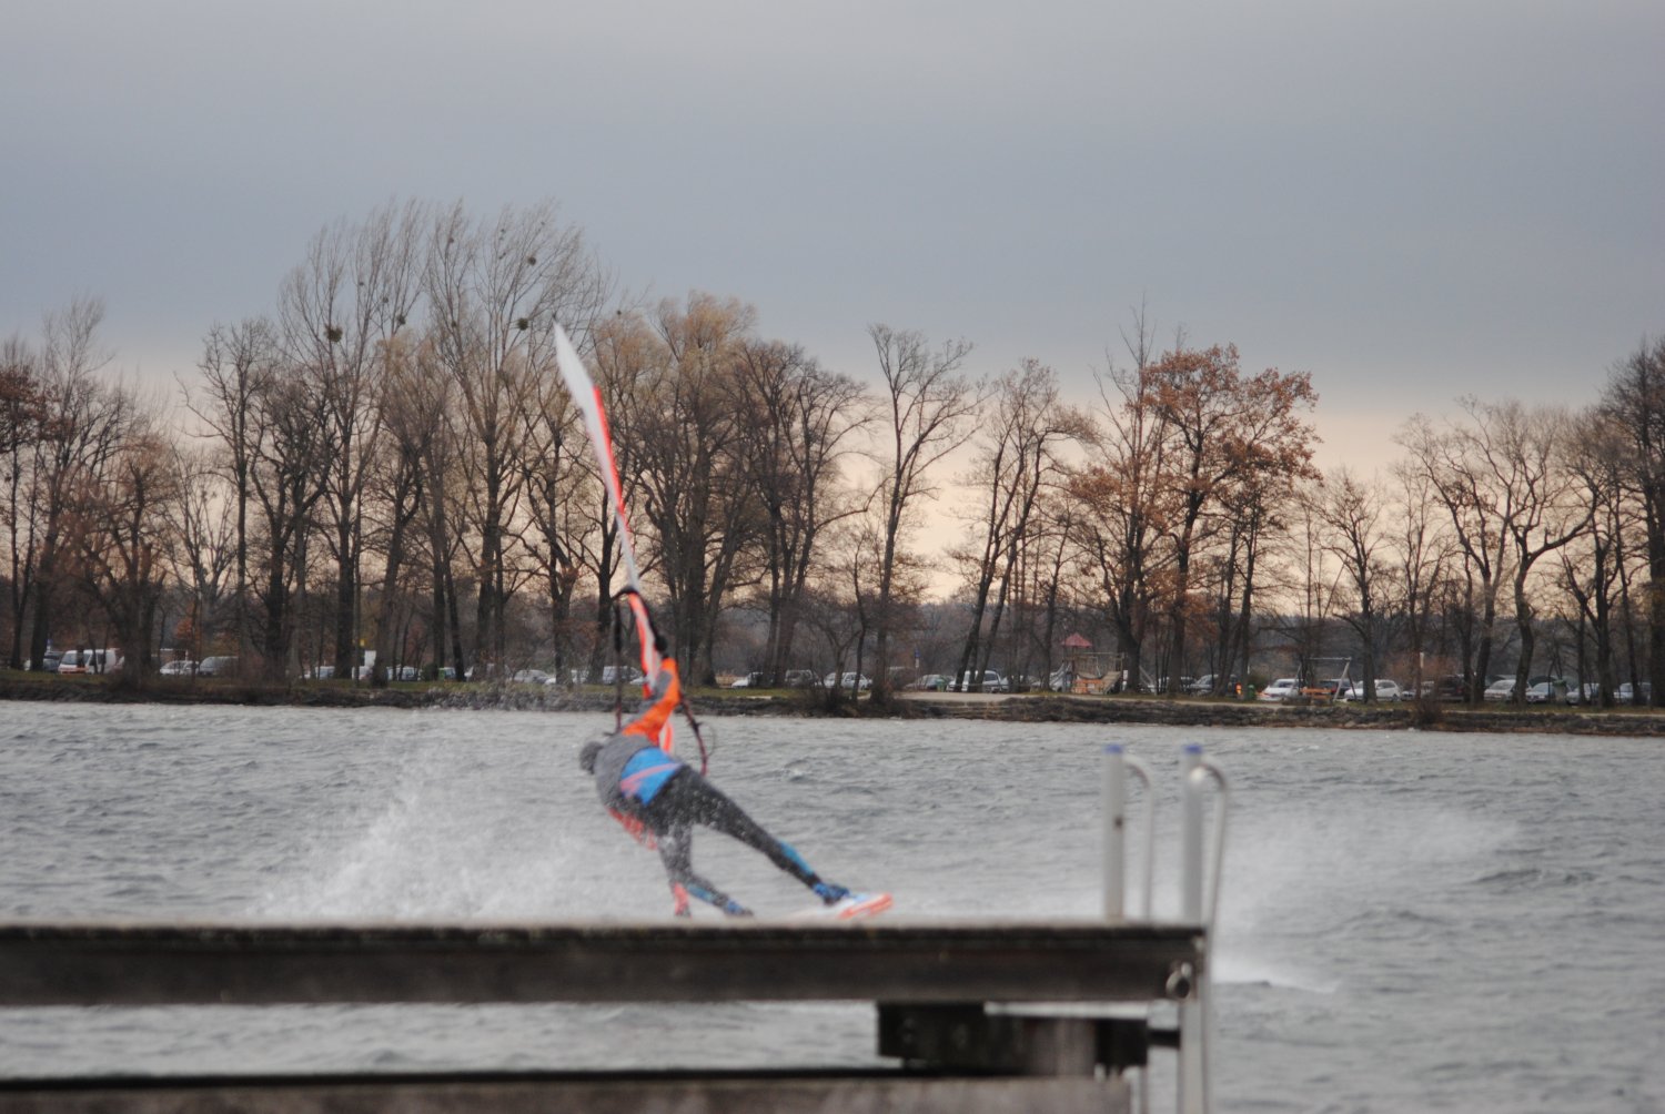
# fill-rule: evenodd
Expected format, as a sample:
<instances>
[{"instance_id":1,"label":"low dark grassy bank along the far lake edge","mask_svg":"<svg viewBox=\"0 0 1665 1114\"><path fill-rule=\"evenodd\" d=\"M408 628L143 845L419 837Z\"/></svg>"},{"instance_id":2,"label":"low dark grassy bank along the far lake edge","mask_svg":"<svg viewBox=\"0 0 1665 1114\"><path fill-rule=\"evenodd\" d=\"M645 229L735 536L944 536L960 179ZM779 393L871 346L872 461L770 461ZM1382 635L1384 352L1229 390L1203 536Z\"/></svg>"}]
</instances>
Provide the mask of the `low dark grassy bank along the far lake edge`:
<instances>
[{"instance_id":1,"label":"low dark grassy bank along the far lake edge","mask_svg":"<svg viewBox=\"0 0 1665 1114\"><path fill-rule=\"evenodd\" d=\"M245 684L238 681L168 681L128 689L85 678L0 676L0 699L107 704L211 704L266 708L403 708L503 711L611 711L614 694L601 688L541 688L529 684ZM1259 701L1162 696L1057 696L906 693L892 708L866 701L828 706L809 693L734 694L701 689L694 708L706 716L801 716L894 719L996 719L1009 723L1102 723L1175 728L1344 728L1359 731L1492 731L1502 734L1665 736L1665 711L1575 708L1479 708L1437 704L1329 704L1290 708ZM628 698L628 706L634 699Z\"/></svg>"}]
</instances>

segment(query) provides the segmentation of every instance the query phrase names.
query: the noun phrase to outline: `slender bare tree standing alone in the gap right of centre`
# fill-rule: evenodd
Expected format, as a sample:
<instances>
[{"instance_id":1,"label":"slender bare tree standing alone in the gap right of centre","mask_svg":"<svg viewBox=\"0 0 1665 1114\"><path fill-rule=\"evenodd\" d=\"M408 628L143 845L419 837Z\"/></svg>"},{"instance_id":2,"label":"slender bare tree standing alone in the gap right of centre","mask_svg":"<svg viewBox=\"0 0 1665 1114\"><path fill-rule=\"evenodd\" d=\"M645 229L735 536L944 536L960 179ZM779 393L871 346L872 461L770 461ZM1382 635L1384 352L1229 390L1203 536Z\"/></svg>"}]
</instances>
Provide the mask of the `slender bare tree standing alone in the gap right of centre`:
<instances>
[{"instance_id":1,"label":"slender bare tree standing alone in the gap right of centre","mask_svg":"<svg viewBox=\"0 0 1665 1114\"><path fill-rule=\"evenodd\" d=\"M882 410L886 445L877 453L884 475L879 483L879 568L874 593L874 699L889 696L891 633L896 626L897 568L904 563L911 511L934 495L931 470L972 433L971 418L982 405L984 386L959 371L971 343L946 341L932 351L921 333L871 325L867 335L884 376Z\"/></svg>"}]
</instances>

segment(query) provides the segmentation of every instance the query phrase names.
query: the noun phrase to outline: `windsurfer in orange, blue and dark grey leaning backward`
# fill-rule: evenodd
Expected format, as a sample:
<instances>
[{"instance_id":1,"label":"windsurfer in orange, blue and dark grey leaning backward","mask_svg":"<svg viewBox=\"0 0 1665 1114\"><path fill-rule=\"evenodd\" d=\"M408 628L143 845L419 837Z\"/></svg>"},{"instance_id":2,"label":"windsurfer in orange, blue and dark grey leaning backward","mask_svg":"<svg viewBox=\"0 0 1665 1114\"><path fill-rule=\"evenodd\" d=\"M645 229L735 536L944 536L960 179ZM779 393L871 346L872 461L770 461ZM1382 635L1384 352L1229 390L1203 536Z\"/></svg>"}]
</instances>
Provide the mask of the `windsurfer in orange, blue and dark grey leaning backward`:
<instances>
[{"instance_id":1,"label":"windsurfer in orange, blue and dark grey leaning backward","mask_svg":"<svg viewBox=\"0 0 1665 1114\"><path fill-rule=\"evenodd\" d=\"M666 751L658 738L671 709L681 699L676 664L666 661L666 681L658 699L616 734L588 743L579 764L594 774L596 793L631 834L653 836L659 861L671 879L676 914L688 916L688 898L694 896L729 914L748 909L694 873L694 824L703 824L739 839L766 854L778 868L809 886L823 901L832 903L847 891L823 883L814 869L789 844L781 843L754 821L721 789L706 781Z\"/></svg>"}]
</instances>

